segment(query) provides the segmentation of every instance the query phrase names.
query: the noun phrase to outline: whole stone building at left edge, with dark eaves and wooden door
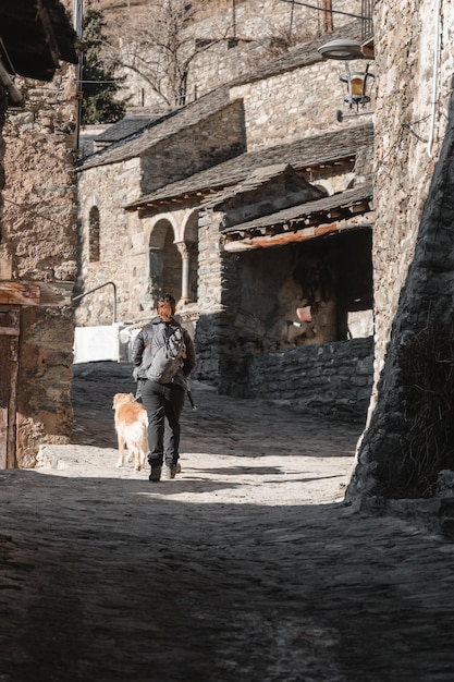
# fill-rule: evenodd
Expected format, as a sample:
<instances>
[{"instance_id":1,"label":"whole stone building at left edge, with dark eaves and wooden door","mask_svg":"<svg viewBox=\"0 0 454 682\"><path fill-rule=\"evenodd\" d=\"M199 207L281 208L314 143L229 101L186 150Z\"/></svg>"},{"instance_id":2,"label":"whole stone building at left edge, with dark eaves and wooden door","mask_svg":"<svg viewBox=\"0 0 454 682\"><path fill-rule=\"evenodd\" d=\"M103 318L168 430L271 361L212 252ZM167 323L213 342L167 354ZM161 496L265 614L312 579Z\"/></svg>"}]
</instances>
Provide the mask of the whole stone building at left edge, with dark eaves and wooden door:
<instances>
[{"instance_id":1,"label":"whole stone building at left edge, with dark eaves and wooden door","mask_svg":"<svg viewBox=\"0 0 454 682\"><path fill-rule=\"evenodd\" d=\"M60 2L16 5L0 9L2 468L72 428L76 38Z\"/></svg>"}]
</instances>

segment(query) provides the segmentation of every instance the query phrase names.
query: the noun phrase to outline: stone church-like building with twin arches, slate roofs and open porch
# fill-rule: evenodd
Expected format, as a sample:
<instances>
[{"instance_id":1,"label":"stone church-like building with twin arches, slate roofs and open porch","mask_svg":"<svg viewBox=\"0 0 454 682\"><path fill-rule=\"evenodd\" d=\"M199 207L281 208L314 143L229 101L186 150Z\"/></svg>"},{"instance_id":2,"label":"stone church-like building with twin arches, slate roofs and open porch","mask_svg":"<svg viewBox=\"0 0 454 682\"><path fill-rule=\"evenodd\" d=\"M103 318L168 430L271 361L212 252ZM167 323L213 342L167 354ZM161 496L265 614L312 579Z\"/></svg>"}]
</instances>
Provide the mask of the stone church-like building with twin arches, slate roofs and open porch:
<instances>
[{"instance_id":1,"label":"stone church-like building with twin arches, slate roofs and open porch","mask_svg":"<svg viewBox=\"0 0 454 682\"><path fill-rule=\"evenodd\" d=\"M363 28L353 22L330 38L360 41ZM169 290L195 332L198 378L232 394L266 392L364 418L373 131L366 117L336 120L339 70L318 51L326 41L81 161L77 292L95 293L81 300L76 320L109 324L107 282L115 283L119 318L132 325ZM368 324L355 333L358 314ZM291 377L285 358L275 372L287 351L298 367Z\"/></svg>"}]
</instances>

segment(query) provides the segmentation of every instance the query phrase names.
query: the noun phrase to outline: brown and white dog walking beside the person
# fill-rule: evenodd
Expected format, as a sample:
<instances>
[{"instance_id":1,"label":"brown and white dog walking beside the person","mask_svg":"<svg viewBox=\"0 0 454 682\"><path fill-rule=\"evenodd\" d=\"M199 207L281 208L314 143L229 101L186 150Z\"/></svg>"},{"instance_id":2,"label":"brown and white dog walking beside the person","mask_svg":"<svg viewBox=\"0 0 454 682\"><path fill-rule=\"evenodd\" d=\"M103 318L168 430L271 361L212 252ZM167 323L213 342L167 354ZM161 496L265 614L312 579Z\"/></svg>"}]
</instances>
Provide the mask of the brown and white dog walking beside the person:
<instances>
[{"instance_id":1,"label":"brown and white dog walking beside the person","mask_svg":"<svg viewBox=\"0 0 454 682\"><path fill-rule=\"evenodd\" d=\"M119 438L119 461L124 464L124 447L128 451L127 461L134 458L135 468L145 466L148 452L148 417L143 404L134 400L132 393L115 393L112 410L115 411L115 431Z\"/></svg>"}]
</instances>

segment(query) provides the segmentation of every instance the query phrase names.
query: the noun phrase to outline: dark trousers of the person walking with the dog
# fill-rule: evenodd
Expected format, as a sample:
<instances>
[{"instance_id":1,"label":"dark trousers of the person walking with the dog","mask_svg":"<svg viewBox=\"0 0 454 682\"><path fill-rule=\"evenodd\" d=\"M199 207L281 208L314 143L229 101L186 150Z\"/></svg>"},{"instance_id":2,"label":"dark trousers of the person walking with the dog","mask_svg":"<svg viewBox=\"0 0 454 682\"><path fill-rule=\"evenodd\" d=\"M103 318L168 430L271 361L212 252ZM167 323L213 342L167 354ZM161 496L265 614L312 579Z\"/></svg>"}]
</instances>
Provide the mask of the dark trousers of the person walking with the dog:
<instances>
[{"instance_id":1,"label":"dark trousers of the person walking with the dog","mask_svg":"<svg viewBox=\"0 0 454 682\"><path fill-rule=\"evenodd\" d=\"M148 461L154 466L176 464L180 456L180 417L184 390L175 383L148 379L142 385L142 401L148 415Z\"/></svg>"}]
</instances>

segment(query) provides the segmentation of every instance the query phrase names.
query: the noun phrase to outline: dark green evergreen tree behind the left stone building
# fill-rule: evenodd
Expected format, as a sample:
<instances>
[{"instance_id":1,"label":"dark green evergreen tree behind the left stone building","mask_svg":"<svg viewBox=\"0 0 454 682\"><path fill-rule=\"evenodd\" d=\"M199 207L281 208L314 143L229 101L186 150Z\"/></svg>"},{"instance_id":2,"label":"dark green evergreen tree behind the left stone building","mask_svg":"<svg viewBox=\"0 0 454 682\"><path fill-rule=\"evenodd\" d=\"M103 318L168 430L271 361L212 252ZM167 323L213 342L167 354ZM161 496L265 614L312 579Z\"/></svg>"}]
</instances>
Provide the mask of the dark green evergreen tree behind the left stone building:
<instances>
[{"instance_id":1,"label":"dark green evergreen tree behind the left stone building","mask_svg":"<svg viewBox=\"0 0 454 682\"><path fill-rule=\"evenodd\" d=\"M84 20L84 58L82 68L82 123L114 123L124 117L126 100L116 99L120 78L101 59L101 46L106 25L102 13L88 10Z\"/></svg>"}]
</instances>

